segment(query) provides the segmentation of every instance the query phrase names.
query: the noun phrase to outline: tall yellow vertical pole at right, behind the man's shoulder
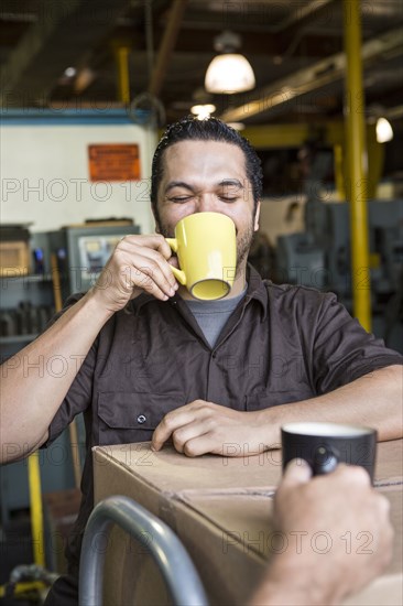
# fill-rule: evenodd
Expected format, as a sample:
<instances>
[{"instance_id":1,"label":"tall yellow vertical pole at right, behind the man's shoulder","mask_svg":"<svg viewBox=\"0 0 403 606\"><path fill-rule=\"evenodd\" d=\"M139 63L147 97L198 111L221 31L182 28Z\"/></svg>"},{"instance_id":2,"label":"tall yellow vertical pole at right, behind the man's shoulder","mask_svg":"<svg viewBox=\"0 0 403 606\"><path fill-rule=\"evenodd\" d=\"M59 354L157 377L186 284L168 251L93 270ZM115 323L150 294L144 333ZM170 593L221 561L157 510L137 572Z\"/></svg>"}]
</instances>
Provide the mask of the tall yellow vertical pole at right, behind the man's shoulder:
<instances>
[{"instance_id":1,"label":"tall yellow vertical pole at right, behind the man's shoulder","mask_svg":"<svg viewBox=\"0 0 403 606\"><path fill-rule=\"evenodd\" d=\"M351 285L353 313L371 329L371 285L368 244L367 175L364 171L364 101L361 59L361 3L344 0L346 74L346 140L349 180L346 194L350 203Z\"/></svg>"}]
</instances>

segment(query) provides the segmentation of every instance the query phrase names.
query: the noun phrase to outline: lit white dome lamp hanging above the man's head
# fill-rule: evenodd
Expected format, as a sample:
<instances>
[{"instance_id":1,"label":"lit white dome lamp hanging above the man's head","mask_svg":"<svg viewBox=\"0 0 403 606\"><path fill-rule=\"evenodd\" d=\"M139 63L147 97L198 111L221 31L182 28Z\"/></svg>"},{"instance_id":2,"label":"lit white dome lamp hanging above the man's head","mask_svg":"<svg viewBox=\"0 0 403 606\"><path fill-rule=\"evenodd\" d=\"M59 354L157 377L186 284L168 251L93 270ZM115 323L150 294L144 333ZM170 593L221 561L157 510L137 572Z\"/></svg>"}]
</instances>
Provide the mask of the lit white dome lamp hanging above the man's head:
<instances>
[{"instance_id":1,"label":"lit white dome lamp hanging above the man's head","mask_svg":"<svg viewBox=\"0 0 403 606\"><path fill-rule=\"evenodd\" d=\"M221 53L211 61L205 77L205 88L208 93L243 93L255 86L251 64L243 55L233 53L241 45L241 37L225 31L215 37L214 47Z\"/></svg>"}]
</instances>

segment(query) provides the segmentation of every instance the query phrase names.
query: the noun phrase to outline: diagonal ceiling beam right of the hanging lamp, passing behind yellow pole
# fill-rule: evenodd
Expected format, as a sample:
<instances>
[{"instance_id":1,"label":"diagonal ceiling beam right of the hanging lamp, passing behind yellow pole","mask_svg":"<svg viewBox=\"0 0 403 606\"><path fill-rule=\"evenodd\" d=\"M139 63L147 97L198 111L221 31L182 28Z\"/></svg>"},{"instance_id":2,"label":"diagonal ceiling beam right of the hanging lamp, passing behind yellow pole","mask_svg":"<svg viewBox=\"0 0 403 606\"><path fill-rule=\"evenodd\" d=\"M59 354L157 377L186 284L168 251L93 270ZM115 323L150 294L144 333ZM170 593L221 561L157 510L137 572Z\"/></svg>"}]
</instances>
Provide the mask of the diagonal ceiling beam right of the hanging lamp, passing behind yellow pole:
<instances>
[{"instance_id":1,"label":"diagonal ceiling beam right of the hanging lamp, passing behind yellow pole","mask_svg":"<svg viewBox=\"0 0 403 606\"><path fill-rule=\"evenodd\" d=\"M403 28L397 28L363 43L361 53L363 65L370 64L382 55L403 54ZM271 108L290 102L306 93L342 79L345 71L346 55L337 53L261 88L250 96L247 102L228 108L220 117L227 122L247 120Z\"/></svg>"}]
</instances>

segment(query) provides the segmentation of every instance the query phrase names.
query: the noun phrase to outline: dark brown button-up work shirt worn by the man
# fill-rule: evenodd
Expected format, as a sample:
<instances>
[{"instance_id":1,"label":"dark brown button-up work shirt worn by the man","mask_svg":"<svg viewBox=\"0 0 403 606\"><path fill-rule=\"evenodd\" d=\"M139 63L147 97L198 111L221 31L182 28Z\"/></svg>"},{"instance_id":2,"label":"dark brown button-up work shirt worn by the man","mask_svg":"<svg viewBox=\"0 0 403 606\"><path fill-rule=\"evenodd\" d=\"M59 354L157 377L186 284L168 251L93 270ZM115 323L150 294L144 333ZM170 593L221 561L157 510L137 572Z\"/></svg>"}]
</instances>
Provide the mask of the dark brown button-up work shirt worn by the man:
<instances>
[{"instance_id":1,"label":"dark brown button-up work shirt worn by the man","mask_svg":"<svg viewBox=\"0 0 403 606\"><path fill-rule=\"evenodd\" d=\"M196 399L261 410L393 364L403 364L402 356L367 334L334 294L263 282L252 268L214 348L179 296L140 295L100 331L50 426L46 445L84 412L88 450L72 570L92 508L91 446L148 441L166 412Z\"/></svg>"}]
</instances>

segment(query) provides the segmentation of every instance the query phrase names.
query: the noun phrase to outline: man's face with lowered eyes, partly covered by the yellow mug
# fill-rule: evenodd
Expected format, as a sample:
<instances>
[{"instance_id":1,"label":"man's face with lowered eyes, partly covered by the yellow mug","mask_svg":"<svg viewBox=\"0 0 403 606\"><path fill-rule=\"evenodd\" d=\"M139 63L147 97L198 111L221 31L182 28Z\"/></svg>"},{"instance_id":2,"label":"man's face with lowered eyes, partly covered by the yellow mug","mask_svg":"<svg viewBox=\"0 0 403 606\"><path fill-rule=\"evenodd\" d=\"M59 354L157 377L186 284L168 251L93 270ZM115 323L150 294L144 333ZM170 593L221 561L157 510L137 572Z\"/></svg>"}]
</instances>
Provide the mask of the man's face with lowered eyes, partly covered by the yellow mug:
<instances>
[{"instance_id":1,"label":"man's face with lowered eyes, partly covered by the yellow mug","mask_svg":"<svg viewBox=\"0 0 403 606\"><path fill-rule=\"evenodd\" d=\"M253 216L252 186L242 150L218 141L182 141L165 151L163 162L159 231L172 238L175 225L194 213L228 215L236 225L237 267L241 269L259 227L260 210L259 204Z\"/></svg>"}]
</instances>

